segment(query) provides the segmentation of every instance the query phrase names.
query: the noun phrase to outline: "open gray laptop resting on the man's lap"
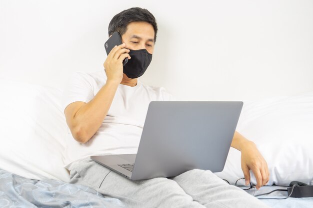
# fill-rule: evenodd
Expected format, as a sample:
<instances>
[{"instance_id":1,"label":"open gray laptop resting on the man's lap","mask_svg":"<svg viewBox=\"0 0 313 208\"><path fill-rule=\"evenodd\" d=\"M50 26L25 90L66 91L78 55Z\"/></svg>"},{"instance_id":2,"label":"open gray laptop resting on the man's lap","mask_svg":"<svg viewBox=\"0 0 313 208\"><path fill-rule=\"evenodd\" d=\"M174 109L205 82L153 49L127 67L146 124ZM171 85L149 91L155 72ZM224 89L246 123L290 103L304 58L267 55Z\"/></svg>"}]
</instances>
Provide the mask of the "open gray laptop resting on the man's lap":
<instances>
[{"instance_id":1,"label":"open gray laptop resting on the man's lap","mask_svg":"<svg viewBox=\"0 0 313 208\"><path fill-rule=\"evenodd\" d=\"M192 169L220 172L242 102L151 101L137 154L91 156L131 179L173 177Z\"/></svg>"}]
</instances>

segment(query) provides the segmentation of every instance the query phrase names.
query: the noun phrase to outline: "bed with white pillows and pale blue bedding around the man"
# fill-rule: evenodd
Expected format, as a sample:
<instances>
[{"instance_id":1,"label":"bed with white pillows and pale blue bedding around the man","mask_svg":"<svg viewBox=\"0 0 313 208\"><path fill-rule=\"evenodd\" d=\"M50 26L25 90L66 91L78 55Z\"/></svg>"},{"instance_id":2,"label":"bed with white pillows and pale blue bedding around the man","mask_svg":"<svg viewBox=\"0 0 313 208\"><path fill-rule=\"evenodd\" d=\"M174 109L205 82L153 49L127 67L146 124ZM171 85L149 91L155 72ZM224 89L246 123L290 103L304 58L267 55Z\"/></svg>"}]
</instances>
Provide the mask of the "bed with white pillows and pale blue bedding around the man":
<instances>
[{"instance_id":1,"label":"bed with white pillows and pale blue bedding around the man","mask_svg":"<svg viewBox=\"0 0 313 208\"><path fill-rule=\"evenodd\" d=\"M0 102L0 208L127 207L118 199L67 183L61 89L0 79L0 93L5 98ZM291 181L313 185L312 126L313 92L244 101L237 131L257 145L271 176L268 186L248 194L286 188ZM224 170L215 174L230 184L242 178L240 153L231 148ZM253 175L251 182L255 184ZM313 198L262 201L273 208L313 207Z\"/></svg>"}]
</instances>

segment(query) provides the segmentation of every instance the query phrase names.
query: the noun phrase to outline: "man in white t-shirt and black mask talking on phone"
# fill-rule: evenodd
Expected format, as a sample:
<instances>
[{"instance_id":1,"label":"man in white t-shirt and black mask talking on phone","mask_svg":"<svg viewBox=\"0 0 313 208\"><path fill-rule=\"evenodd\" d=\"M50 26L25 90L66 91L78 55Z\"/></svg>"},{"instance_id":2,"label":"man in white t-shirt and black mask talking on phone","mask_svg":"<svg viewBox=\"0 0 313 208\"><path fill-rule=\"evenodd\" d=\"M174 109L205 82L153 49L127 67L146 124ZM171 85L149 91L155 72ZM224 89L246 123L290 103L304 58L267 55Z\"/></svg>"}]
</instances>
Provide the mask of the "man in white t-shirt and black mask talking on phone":
<instances>
[{"instance_id":1,"label":"man in white t-shirt and black mask talking on phone","mask_svg":"<svg viewBox=\"0 0 313 208\"><path fill-rule=\"evenodd\" d=\"M76 73L64 94L64 114L70 130L65 163L70 183L92 187L120 199L127 207L266 207L210 171L191 170L172 179L131 181L88 158L136 153L149 102L171 99L164 88L146 86L137 79L153 53L157 32L154 16L146 9L126 9L110 21L109 36L115 31L123 43L110 51L104 70ZM123 67L126 57L129 60ZM267 164L255 145L235 132L231 146L241 151L246 184L252 170L256 188L265 185Z\"/></svg>"}]
</instances>

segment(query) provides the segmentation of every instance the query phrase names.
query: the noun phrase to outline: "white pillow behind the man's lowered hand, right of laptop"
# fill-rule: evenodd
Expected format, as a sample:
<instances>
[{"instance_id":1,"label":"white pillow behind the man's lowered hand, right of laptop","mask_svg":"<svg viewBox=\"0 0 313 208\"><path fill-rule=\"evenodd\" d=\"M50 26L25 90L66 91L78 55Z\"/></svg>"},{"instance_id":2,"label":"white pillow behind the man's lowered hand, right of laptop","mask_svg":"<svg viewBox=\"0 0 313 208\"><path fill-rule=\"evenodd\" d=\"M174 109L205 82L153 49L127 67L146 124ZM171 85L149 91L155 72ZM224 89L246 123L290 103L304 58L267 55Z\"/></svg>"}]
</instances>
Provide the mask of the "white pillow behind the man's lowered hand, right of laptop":
<instances>
[{"instance_id":1,"label":"white pillow behind the man's lowered hand, right of laptop","mask_svg":"<svg viewBox=\"0 0 313 208\"><path fill-rule=\"evenodd\" d=\"M246 101L237 131L253 141L266 160L267 185L313 180L313 93ZM243 178L240 152L230 148L224 170L216 175L230 183ZM256 184L254 176L251 182Z\"/></svg>"}]
</instances>

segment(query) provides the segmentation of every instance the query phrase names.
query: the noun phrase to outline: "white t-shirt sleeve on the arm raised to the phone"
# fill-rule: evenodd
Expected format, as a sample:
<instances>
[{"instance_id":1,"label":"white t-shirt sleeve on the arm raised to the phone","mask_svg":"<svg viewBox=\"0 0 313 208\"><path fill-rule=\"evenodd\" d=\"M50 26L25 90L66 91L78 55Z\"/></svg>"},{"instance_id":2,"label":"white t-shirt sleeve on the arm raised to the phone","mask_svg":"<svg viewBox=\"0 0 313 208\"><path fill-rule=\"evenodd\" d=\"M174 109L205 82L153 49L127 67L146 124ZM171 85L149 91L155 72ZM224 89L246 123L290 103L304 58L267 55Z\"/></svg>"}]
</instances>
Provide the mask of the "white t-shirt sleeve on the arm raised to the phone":
<instances>
[{"instance_id":1,"label":"white t-shirt sleeve on the arm raised to the phone","mask_svg":"<svg viewBox=\"0 0 313 208\"><path fill-rule=\"evenodd\" d=\"M76 101L87 103L94 97L92 85L88 78L90 79L88 74L81 72L74 72L71 75L62 95L63 111L70 103Z\"/></svg>"}]
</instances>

